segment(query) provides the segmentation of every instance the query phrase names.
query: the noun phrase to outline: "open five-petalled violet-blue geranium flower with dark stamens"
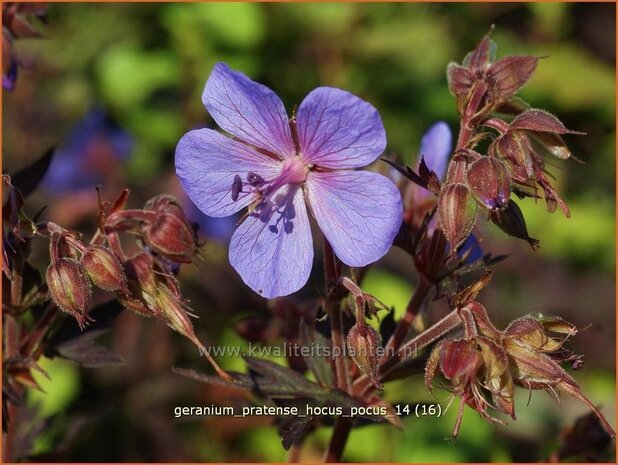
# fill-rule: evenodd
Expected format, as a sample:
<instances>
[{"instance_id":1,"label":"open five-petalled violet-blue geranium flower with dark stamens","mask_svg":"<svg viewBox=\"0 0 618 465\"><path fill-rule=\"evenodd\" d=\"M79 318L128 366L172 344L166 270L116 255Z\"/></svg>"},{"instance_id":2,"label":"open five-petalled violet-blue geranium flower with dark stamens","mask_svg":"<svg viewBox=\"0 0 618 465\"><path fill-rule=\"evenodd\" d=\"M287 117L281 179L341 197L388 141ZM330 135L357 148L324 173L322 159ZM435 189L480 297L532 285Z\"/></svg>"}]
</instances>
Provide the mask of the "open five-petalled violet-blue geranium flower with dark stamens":
<instances>
[{"instance_id":1,"label":"open five-petalled violet-blue geranium flower with dark stamens","mask_svg":"<svg viewBox=\"0 0 618 465\"><path fill-rule=\"evenodd\" d=\"M343 90L319 87L289 119L269 88L215 65L202 95L216 123L185 134L176 173L204 213L249 207L229 249L232 266L264 297L291 294L308 280L313 245L308 209L337 257L365 266L386 254L401 224L399 191L386 177L357 171L386 146L380 115Z\"/></svg>"}]
</instances>

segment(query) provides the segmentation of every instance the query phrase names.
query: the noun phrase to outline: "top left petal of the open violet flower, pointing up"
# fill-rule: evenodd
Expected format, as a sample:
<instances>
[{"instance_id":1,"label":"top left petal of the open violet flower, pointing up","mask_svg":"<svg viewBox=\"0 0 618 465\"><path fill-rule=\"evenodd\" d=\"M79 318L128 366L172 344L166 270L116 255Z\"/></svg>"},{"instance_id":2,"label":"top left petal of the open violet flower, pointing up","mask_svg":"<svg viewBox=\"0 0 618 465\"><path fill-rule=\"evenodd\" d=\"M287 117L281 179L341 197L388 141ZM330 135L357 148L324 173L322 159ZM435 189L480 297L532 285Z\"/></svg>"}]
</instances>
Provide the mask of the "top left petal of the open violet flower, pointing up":
<instances>
[{"instance_id":1,"label":"top left petal of the open violet flower, pointing up","mask_svg":"<svg viewBox=\"0 0 618 465\"><path fill-rule=\"evenodd\" d=\"M242 141L282 158L295 155L285 107L268 87L217 63L202 102L221 128Z\"/></svg>"}]
</instances>

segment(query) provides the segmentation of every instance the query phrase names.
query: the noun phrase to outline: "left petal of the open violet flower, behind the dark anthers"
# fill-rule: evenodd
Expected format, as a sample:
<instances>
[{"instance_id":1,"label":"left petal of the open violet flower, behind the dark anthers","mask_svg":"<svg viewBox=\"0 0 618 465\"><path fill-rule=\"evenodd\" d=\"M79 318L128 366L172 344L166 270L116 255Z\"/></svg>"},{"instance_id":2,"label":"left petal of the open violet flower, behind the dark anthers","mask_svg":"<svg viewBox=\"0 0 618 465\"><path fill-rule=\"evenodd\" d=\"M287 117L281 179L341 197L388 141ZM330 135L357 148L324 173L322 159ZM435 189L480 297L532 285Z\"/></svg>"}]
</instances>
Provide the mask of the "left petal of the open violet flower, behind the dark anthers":
<instances>
[{"instance_id":1,"label":"left petal of the open violet flower, behind the dark anthers","mask_svg":"<svg viewBox=\"0 0 618 465\"><path fill-rule=\"evenodd\" d=\"M271 178L282 163L256 152L211 129L186 133L176 146L176 174L193 203L210 216L229 216L246 207L254 195L241 192L232 199L236 176L244 181L248 173Z\"/></svg>"}]
</instances>

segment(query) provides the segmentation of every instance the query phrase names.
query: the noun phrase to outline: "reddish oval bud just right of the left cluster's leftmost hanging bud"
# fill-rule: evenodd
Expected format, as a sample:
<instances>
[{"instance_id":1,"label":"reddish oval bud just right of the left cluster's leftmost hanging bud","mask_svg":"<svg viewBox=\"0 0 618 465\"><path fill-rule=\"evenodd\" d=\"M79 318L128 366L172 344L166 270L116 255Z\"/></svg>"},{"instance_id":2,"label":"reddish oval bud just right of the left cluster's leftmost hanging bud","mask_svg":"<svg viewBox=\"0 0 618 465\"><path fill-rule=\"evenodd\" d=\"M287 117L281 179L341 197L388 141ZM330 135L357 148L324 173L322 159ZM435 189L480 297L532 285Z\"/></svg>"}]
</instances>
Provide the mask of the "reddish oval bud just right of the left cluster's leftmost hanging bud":
<instances>
[{"instance_id":1,"label":"reddish oval bud just right of the left cluster's leftmost hanging bud","mask_svg":"<svg viewBox=\"0 0 618 465\"><path fill-rule=\"evenodd\" d=\"M128 292L127 277L111 250L100 245L89 246L81 263L95 286L106 291Z\"/></svg>"}]
</instances>

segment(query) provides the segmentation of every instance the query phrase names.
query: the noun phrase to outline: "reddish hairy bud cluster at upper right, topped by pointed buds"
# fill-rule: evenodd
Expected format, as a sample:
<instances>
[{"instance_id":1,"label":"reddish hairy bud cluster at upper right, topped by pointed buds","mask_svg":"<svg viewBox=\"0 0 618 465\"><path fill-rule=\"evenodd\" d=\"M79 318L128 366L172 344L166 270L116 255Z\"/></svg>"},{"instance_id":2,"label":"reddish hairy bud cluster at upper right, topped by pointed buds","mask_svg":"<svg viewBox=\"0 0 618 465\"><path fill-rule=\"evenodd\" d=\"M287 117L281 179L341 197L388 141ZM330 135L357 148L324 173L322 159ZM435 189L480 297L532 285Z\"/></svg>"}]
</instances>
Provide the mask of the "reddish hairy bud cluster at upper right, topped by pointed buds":
<instances>
[{"instance_id":1,"label":"reddish hairy bud cluster at upper right, topped by pointed buds","mask_svg":"<svg viewBox=\"0 0 618 465\"><path fill-rule=\"evenodd\" d=\"M559 206L569 216L566 203L545 172L543 155L574 158L562 135L582 133L567 129L554 115L532 109L515 97L532 76L538 58L521 55L496 60L495 50L488 34L462 64L451 63L447 68L461 130L437 208L440 228L451 250L470 235L480 209L507 234L536 248L538 241L528 235L511 193L539 198L540 189L550 212ZM490 139L486 154L475 150L483 139Z\"/></svg>"}]
</instances>

